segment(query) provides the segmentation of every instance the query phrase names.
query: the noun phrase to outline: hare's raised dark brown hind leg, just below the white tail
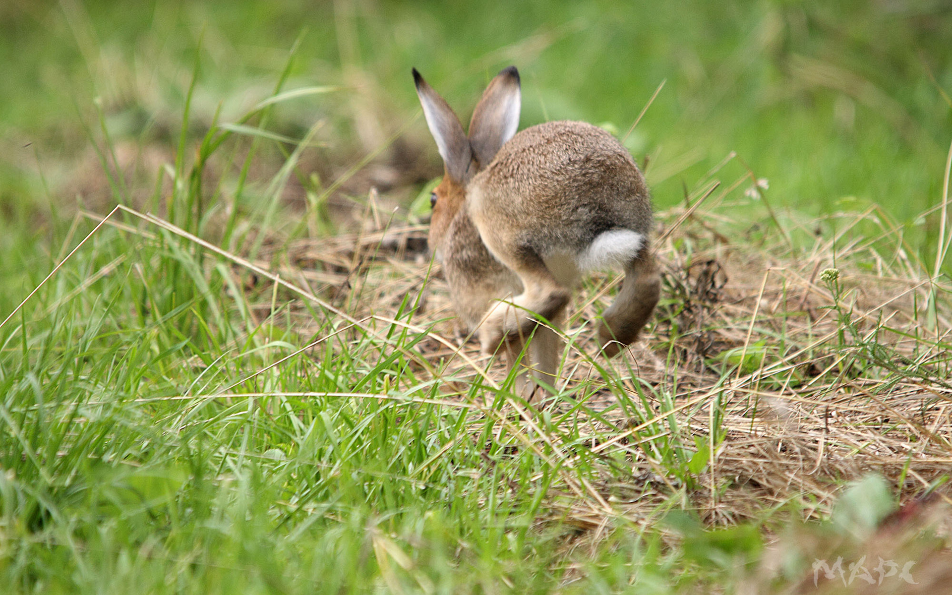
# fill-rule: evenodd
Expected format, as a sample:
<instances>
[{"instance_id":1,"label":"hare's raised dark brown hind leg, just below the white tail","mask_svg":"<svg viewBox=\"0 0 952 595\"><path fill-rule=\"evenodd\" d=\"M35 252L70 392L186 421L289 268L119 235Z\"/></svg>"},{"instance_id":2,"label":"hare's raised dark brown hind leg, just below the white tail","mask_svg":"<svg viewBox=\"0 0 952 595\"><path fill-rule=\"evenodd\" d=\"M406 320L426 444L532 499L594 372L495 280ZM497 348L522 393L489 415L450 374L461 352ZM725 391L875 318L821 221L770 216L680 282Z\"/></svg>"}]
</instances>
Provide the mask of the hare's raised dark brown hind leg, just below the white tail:
<instances>
[{"instance_id":1,"label":"hare's raised dark brown hind leg, just below the white tail","mask_svg":"<svg viewBox=\"0 0 952 595\"><path fill-rule=\"evenodd\" d=\"M605 310L599 327L602 349L608 357L634 343L661 293L661 277L650 249L645 246L625 267L625 281L615 302Z\"/></svg>"}]
</instances>

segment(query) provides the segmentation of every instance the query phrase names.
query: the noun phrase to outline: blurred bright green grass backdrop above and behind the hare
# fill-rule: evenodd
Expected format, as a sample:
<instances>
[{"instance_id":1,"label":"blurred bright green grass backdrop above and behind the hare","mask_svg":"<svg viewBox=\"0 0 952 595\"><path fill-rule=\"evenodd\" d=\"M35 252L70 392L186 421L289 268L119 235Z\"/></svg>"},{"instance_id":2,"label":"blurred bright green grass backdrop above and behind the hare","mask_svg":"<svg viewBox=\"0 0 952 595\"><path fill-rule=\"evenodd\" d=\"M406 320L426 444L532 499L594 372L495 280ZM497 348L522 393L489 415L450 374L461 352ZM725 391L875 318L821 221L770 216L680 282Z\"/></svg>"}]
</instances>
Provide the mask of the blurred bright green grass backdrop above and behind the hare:
<instances>
[{"instance_id":1,"label":"blurred bright green grass backdrop above and behind the hare","mask_svg":"<svg viewBox=\"0 0 952 595\"><path fill-rule=\"evenodd\" d=\"M938 217L916 217L941 200L952 140L950 7L4 0L3 242L22 246L11 232L42 228L51 203L76 201L77 177L96 175L90 143L105 131L171 160L196 58L189 129L198 139L219 107L228 122L267 97L298 40L286 89L346 89L285 102L269 127L300 138L327 120L327 162L352 162L418 115L413 66L466 117L488 78L515 64L523 127L571 118L621 134L666 80L626 140L636 159L648 157L659 207L683 200L684 187L733 150L740 160L725 177L749 167L768 180L772 204L823 212L877 203L916 223L927 245ZM423 121L407 130L435 166Z\"/></svg>"}]
</instances>

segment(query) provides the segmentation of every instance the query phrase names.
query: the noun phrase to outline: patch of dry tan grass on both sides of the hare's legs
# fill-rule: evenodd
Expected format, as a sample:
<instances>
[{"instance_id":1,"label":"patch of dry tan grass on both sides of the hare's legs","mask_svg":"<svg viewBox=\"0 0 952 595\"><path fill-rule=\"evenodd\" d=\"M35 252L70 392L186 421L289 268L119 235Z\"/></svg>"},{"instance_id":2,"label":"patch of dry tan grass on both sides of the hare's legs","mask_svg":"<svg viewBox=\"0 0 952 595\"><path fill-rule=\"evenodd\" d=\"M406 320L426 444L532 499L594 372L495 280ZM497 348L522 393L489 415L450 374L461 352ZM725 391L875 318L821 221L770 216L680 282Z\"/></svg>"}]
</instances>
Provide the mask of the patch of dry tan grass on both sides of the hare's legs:
<instances>
[{"instance_id":1,"label":"patch of dry tan grass on both sides of the hare's legs","mask_svg":"<svg viewBox=\"0 0 952 595\"><path fill-rule=\"evenodd\" d=\"M637 446L658 437L647 428L671 419L668 428L714 446L702 486L687 495L715 525L758 518L791 500L808 502L807 516L820 514L836 486L870 471L902 499L930 490L952 463L948 286L908 256L901 229L881 213L741 226L731 213L756 202L722 199L658 214L664 297L645 338L626 354L593 359L587 322L617 279L597 277L577 296L566 326L571 398L556 410L584 411L592 452L622 449L632 464L630 485L594 489L614 513L649 519L652 506L684 486ZM439 267L426 256L426 226L394 223L371 205L366 229L298 241L263 262L281 263L283 279L362 320L387 320L422 293L413 324L432 325L446 341L426 341L419 352L441 363L445 394L463 398L477 376L473 363L486 359L454 327ZM817 232L831 225L834 237ZM834 267L836 279L823 272ZM305 334L317 332L307 315L300 322ZM502 367L488 375L502 382ZM643 391L656 416L629 419L619 387L636 400ZM603 526L603 506L580 504L573 505L580 526Z\"/></svg>"}]
</instances>

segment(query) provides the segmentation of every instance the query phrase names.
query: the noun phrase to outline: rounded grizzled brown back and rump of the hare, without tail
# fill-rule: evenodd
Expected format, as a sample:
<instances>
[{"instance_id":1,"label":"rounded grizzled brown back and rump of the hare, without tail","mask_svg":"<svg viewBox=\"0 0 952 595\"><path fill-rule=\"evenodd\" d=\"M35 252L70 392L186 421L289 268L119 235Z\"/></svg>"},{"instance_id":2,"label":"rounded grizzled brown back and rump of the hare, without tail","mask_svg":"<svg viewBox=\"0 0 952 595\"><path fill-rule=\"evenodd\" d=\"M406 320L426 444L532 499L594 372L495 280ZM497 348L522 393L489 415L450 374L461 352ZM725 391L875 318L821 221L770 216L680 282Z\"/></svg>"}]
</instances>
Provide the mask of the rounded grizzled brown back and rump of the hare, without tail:
<instances>
[{"instance_id":1,"label":"rounded grizzled brown back and rump of the hare, without tail","mask_svg":"<svg viewBox=\"0 0 952 595\"><path fill-rule=\"evenodd\" d=\"M583 122L522 130L470 188L469 208L481 229L540 253L582 250L615 229L644 237L651 227L645 178L631 155L604 129Z\"/></svg>"}]
</instances>

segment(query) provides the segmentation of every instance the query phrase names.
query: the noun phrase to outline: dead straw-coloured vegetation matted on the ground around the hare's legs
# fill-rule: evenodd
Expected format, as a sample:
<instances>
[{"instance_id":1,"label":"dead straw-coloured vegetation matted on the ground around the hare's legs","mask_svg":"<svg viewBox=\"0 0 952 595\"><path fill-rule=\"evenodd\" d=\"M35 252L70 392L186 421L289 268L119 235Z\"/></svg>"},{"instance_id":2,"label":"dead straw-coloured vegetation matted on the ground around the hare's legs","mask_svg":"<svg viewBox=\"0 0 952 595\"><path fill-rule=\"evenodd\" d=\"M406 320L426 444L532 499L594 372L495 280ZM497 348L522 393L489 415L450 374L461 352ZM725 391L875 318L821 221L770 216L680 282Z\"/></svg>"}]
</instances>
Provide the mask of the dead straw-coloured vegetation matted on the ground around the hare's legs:
<instances>
[{"instance_id":1,"label":"dead straw-coloured vegetation matted on the ground around the hare's legs","mask_svg":"<svg viewBox=\"0 0 952 595\"><path fill-rule=\"evenodd\" d=\"M826 518L839 488L869 473L905 506L946 510L950 287L910 256L902 229L877 210L758 218L751 216L761 208L756 199L730 204L726 194L702 205L711 192L699 191L689 206L658 213L663 299L638 345L610 362L596 355L590 321L615 290L614 275L596 276L579 292L565 326L564 390L552 403L533 404L555 426L582 428L571 444L546 435L526 404L507 397L504 407L492 406L500 387L505 393L503 367L455 326L428 255L426 222L375 190L353 217L361 228L265 241L254 262L232 261L259 296L259 320L286 304L309 345L328 332L341 341L380 337L394 321L426 335L407 357L436 382L440 403L519 427L522 446L545 443L555 453L563 481L550 488L540 521L577 527L567 549L597 542L618 519L652 526L672 497L708 527L757 523L791 505L803 520ZM313 316L315 305L326 318ZM328 330L341 316L347 325ZM391 347L375 348L382 356ZM592 461L605 467L598 480L574 473L577 462ZM517 484L510 478L510 485ZM904 547L903 555L934 568L932 585L944 580L949 534L928 546L919 537L934 525L924 517L937 514L906 515L889 550ZM846 548L859 557L867 546L885 551L874 546L877 535L846 545L775 536L775 547L807 557ZM670 534L671 545L678 539ZM808 592L783 590L801 585L789 580L770 590L778 572L770 564L768 555L750 592Z\"/></svg>"}]
</instances>

